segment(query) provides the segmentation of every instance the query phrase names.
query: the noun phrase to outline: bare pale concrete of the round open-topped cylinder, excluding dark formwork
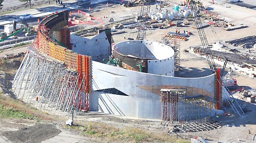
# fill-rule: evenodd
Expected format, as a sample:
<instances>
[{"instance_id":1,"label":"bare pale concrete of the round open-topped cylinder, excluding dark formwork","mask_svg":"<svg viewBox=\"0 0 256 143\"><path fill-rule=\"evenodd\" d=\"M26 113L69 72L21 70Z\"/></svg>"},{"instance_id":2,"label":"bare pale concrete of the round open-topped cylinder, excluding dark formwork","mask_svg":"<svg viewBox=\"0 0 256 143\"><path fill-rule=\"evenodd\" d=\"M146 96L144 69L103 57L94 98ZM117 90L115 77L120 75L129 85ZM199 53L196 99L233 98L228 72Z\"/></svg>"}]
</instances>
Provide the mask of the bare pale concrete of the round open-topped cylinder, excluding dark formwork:
<instances>
[{"instance_id":1,"label":"bare pale concrete of the round open-topped cylinder, excluding dark formwork","mask_svg":"<svg viewBox=\"0 0 256 143\"><path fill-rule=\"evenodd\" d=\"M123 55L142 57L148 60L148 73L174 76L174 50L153 41L124 41L114 45L114 50Z\"/></svg>"}]
</instances>

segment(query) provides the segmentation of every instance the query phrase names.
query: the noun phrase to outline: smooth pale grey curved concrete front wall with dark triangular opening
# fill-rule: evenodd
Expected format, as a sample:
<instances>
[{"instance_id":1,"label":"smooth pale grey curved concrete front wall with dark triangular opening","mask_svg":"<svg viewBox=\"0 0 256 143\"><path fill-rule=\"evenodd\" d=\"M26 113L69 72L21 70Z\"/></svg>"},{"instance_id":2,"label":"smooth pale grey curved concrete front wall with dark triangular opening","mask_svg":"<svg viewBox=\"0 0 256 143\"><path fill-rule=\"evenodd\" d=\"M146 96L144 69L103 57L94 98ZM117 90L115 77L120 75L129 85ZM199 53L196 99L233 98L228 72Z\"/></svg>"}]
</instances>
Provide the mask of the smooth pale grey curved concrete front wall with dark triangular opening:
<instances>
[{"instance_id":1,"label":"smooth pale grey curved concrete front wall with dark triangular opening","mask_svg":"<svg viewBox=\"0 0 256 143\"><path fill-rule=\"evenodd\" d=\"M160 90L187 89L188 95L214 97L215 75L180 78L135 72L107 64L92 62L90 110L136 118L161 119ZM125 95L98 90L115 88ZM97 100L99 99L99 100Z\"/></svg>"}]
</instances>

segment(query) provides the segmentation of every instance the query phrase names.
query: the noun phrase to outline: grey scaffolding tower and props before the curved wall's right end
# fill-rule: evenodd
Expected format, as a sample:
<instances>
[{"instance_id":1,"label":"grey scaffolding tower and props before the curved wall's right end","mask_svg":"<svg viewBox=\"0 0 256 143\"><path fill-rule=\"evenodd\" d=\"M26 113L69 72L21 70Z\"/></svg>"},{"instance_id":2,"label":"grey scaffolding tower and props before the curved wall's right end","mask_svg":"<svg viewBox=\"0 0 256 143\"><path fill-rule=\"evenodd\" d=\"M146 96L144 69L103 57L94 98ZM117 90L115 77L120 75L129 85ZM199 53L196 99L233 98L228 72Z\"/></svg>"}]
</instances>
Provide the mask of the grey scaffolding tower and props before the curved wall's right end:
<instances>
[{"instance_id":1,"label":"grey scaffolding tower and props before the curved wall's right end","mask_svg":"<svg viewBox=\"0 0 256 143\"><path fill-rule=\"evenodd\" d=\"M208 96L187 96L186 89L161 89L162 125L207 122L216 102Z\"/></svg>"}]
</instances>

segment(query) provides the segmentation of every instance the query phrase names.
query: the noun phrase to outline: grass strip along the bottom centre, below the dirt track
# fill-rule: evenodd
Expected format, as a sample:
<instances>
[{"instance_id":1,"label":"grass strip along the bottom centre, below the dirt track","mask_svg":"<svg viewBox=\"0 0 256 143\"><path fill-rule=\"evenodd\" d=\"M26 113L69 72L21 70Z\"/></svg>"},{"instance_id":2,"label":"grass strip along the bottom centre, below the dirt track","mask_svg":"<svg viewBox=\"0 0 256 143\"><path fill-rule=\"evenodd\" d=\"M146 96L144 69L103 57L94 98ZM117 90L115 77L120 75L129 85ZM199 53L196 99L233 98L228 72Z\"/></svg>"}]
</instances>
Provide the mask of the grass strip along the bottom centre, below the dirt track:
<instances>
[{"instance_id":1,"label":"grass strip along the bottom centre, below the dirt track","mask_svg":"<svg viewBox=\"0 0 256 143\"><path fill-rule=\"evenodd\" d=\"M84 136L102 138L106 142L189 142L176 139L166 133L160 134L133 127L117 128L100 122L75 122L75 126L65 126L65 128L74 129Z\"/></svg>"}]
</instances>

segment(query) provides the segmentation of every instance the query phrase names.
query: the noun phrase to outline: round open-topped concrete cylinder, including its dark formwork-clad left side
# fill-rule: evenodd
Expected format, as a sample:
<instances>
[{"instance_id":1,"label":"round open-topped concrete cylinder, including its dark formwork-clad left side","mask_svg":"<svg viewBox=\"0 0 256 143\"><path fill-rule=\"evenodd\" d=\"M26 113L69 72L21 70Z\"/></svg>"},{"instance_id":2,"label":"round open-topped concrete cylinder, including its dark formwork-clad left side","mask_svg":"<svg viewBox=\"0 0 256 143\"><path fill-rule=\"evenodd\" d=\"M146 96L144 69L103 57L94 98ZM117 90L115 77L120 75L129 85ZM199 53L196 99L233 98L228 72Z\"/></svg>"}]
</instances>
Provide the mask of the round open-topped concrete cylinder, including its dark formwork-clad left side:
<instances>
[{"instance_id":1,"label":"round open-topped concrete cylinder, including its dark formwork-clad left side","mask_svg":"<svg viewBox=\"0 0 256 143\"><path fill-rule=\"evenodd\" d=\"M124 41L113 47L113 55L123 64L139 70L143 63L144 73L174 76L174 50L153 41Z\"/></svg>"}]
</instances>

